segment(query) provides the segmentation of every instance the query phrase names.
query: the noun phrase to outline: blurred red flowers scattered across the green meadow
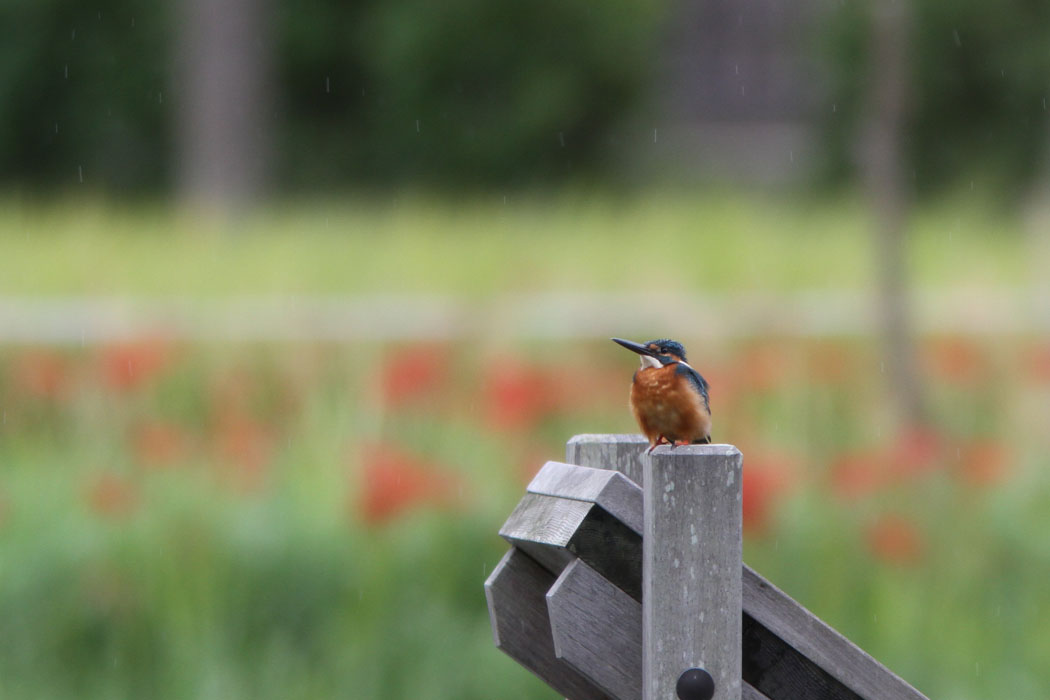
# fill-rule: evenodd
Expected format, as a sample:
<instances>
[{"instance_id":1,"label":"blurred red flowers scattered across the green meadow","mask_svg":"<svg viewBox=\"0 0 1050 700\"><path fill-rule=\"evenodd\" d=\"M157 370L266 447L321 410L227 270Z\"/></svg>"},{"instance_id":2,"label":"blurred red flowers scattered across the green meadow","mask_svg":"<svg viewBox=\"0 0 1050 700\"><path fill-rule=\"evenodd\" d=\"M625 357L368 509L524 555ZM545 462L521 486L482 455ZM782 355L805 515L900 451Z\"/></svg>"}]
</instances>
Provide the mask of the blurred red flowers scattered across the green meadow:
<instances>
[{"instance_id":1,"label":"blurred red flowers scattered across the green meadow","mask_svg":"<svg viewBox=\"0 0 1050 700\"><path fill-rule=\"evenodd\" d=\"M740 348L732 362L717 358L704 364L712 384L721 425L733 431L730 439L747 437L743 473L743 519L750 536L771 529L777 508L806 479L800 455L769 447L750 415L751 402L741 398L762 397L793 382L793 373L805 381L837 385L858 368L841 343L814 341L780 352L770 343ZM88 352L50 347L26 348L8 363L4 386L13 390L15 404L64 405L85 387L97 387L121 400L141 395L169 376L177 365L178 348L162 339L143 339L101 346ZM931 377L959 385L973 385L989 376L986 353L966 339L941 338L924 345L924 367ZM374 391L382 412L396 424L401 411L423 410L477 420L481 426L508 443L510 474L528 478L549 454L536 447L546 421L584 416L595 409L622 406L627 412L629 369L601 361L534 363L513 355L488 359L471 357L475 367L457 365L453 348L442 343L422 343L386 348L376 368ZM1021 366L1035 382L1050 382L1050 346L1023 351ZM462 378L457 370L463 372ZM464 391L462 387L470 387ZM309 390L310 387L306 387ZM455 389L455 390L454 390ZM271 422L258 417L259 381L251 372L225 373L212 381L206 396L205 425L194 427L171 418L145 416L126 431L128 451L144 471L176 468L190 462L211 463L219 482L239 491L254 491L267 482L268 466L279 443ZM365 400L362 398L361 400ZM353 400L353 398L348 398ZM629 419L625 419L625 422ZM622 424L623 425L623 424ZM400 440L400 436L398 436ZM755 448L755 444L765 447ZM377 442L355 451L359 471L351 493L355 512L369 523L384 523L419 508L463 505L463 480L457 470L414 453L398 442ZM902 432L896 439L869 449L850 450L832 461L827 488L844 503L874 499L887 489L907 486L933 473L950 473L971 487L988 487L1005 480L1011 454L1004 443L991 438L952 439L929 428ZM524 466L520 466L524 464ZM514 466L519 465L519 466ZM526 473L527 472L527 473ZM84 486L89 508L107 516L133 512L141 494L138 475L122 475L107 469ZM881 558L905 563L922 551L918 528L910 534L904 515L886 516L872 525L867 545Z\"/></svg>"}]
</instances>

